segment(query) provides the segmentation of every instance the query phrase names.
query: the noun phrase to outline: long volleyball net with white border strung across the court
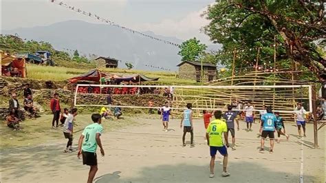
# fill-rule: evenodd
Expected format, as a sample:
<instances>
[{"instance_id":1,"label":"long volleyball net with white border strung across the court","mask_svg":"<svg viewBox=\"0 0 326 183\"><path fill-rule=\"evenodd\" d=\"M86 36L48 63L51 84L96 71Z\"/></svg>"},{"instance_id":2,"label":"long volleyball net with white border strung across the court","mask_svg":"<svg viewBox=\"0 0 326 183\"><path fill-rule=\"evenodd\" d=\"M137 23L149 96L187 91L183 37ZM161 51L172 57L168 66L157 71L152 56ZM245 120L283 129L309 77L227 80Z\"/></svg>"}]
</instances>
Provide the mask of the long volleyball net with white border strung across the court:
<instances>
[{"instance_id":1,"label":"long volleyball net with white border strung across the court","mask_svg":"<svg viewBox=\"0 0 326 183\"><path fill-rule=\"evenodd\" d=\"M112 94L113 103L108 105L107 96ZM168 102L171 109L183 110L187 103L193 110L222 110L233 100L251 102L259 111L263 105L273 111L293 113L296 103L303 103L312 112L312 87L310 85L76 85L76 107L121 107L133 109L159 108ZM151 103L153 105L151 105ZM238 110L243 110L241 107Z\"/></svg>"}]
</instances>

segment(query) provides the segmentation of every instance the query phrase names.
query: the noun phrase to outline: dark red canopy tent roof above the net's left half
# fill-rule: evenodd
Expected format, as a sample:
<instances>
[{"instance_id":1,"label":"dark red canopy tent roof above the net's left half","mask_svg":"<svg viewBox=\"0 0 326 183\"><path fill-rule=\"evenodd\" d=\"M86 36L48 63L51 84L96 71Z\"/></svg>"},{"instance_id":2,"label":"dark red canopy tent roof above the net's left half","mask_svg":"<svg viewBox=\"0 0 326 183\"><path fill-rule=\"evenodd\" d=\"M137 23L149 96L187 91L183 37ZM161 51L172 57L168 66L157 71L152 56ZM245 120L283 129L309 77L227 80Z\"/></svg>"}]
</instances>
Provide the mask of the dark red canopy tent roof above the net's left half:
<instances>
[{"instance_id":1,"label":"dark red canopy tent roof above the net's left half","mask_svg":"<svg viewBox=\"0 0 326 183\"><path fill-rule=\"evenodd\" d=\"M142 74L137 74L134 76L126 76L126 77L122 77L122 76L118 76L116 74L109 74L109 73L105 73L105 72L101 72L98 69L93 69L85 74L82 74L80 76L76 76L74 78L69 78L69 83L77 83L79 80L89 80L89 81L96 81L96 82L100 82L101 78L107 78L110 80L114 80L117 84L121 83L122 81L124 82L133 82L133 83L139 83L144 82L144 81L151 81L151 80L158 80L159 78L148 78Z\"/></svg>"}]
</instances>

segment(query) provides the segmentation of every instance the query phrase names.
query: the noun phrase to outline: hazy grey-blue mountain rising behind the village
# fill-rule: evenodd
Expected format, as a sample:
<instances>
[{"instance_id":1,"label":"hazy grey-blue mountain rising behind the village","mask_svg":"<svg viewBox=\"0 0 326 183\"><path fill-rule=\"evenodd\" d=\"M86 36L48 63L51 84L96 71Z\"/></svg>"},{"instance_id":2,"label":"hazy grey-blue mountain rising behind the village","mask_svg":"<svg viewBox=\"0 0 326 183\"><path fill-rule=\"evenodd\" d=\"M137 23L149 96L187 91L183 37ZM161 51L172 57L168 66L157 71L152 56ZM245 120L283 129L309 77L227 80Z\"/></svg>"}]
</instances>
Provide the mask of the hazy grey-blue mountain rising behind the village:
<instances>
[{"instance_id":1,"label":"hazy grey-blue mountain rising behind the village","mask_svg":"<svg viewBox=\"0 0 326 183\"><path fill-rule=\"evenodd\" d=\"M146 67L146 65L153 65L176 71L176 65L180 63L180 56L177 55L178 47L105 24L65 21L48 26L3 30L2 32L3 34L18 34L23 39L50 42L56 50L78 50L82 55L87 56L89 54L110 56L122 61L119 63L119 67L122 68L125 68L124 62L131 62L135 69L155 70L155 68ZM153 32L146 32L146 34L174 43L183 42L180 39L156 35ZM208 50L218 48L219 45L208 45Z\"/></svg>"}]
</instances>

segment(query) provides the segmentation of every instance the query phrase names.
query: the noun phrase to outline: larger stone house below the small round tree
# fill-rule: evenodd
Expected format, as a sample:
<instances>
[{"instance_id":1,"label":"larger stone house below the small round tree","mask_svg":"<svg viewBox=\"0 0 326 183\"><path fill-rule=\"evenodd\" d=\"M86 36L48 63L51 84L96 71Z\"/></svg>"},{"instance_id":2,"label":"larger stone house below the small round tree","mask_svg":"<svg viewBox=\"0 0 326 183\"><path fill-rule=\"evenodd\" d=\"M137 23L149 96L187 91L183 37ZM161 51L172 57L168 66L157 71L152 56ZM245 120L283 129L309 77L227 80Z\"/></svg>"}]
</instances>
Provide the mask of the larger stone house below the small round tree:
<instances>
[{"instance_id":1,"label":"larger stone house below the small round tree","mask_svg":"<svg viewBox=\"0 0 326 183\"><path fill-rule=\"evenodd\" d=\"M183 61L179 65L179 78L201 81L202 65L200 62ZM213 63L203 63L204 82L217 79L216 65Z\"/></svg>"}]
</instances>

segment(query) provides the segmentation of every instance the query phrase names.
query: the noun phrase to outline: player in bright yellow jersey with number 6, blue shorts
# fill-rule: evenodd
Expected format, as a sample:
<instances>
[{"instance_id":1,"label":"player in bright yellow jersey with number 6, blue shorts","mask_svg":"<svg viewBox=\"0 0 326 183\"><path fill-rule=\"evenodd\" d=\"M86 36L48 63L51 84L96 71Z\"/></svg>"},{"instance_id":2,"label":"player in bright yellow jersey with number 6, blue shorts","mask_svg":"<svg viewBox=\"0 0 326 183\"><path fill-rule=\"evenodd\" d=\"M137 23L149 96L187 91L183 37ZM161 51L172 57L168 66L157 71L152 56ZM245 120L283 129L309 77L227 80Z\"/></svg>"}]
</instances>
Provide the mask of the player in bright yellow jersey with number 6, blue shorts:
<instances>
[{"instance_id":1,"label":"player in bright yellow jersey with number 6, blue shorts","mask_svg":"<svg viewBox=\"0 0 326 183\"><path fill-rule=\"evenodd\" d=\"M210 124L207 127L206 131L206 138L207 138L207 144L210 147L210 177L214 178L214 165L215 165L215 155L217 151L221 155L224 156L223 160L223 177L230 176L230 173L226 171L226 166L228 165L228 151L226 149L226 146L228 147L228 128L226 126L226 122L224 120L221 120L222 112L221 111L215 111L214 112L215 120L210 122ZM226 146L224 145L222 133L224 133L224 138L226 140Z\"/></svg>"}]
</instances>

